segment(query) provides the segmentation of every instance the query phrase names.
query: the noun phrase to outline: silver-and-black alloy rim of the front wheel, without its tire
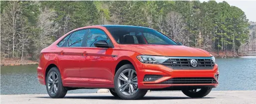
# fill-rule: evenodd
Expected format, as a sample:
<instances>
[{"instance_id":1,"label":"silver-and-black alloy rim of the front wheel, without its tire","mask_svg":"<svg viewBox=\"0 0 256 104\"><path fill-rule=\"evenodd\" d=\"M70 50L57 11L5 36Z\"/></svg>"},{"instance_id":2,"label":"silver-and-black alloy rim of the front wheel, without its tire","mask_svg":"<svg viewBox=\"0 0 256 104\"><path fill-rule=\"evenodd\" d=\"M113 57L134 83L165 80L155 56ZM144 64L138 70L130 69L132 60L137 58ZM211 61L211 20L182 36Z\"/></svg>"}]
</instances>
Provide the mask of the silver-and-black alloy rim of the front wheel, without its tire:
<instances>
[{"instance_id":1,"label":"silver-and-black alloy rim of the front wheel, without its tire","mask_svg":"<svg viewBox=\"0 0 256 104\"><path fill-rule=\"evenodd\" d=\"M131 96L138 91L138 79L135 70L126 69L120 73L118 77L118 89L126 96Z\"/></svg>"}]
</instances>

